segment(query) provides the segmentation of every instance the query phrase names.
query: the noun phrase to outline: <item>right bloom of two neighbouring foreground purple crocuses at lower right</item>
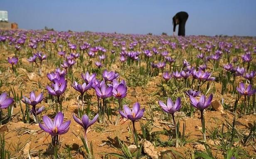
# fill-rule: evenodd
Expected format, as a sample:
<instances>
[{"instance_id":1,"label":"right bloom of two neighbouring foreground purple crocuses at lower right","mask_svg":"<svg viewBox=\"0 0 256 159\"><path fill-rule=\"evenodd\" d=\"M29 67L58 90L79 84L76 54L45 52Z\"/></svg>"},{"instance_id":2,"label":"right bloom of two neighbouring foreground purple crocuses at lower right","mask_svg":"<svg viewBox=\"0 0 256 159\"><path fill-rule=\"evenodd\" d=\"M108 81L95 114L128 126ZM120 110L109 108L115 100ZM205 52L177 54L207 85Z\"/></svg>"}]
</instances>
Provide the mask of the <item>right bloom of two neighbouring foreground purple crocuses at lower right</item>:
<instances>
[{"instance_id":1,"label":"right bloom of two neighbouring foreground purple crocuses at lower right","mask_svg":"<svg viewBox=\"0 0 256 159\"><path fill-rule=\"evenodd\" d=\"M194 108L197 108L200 111L203 111L204 109L208 108L211 105L212 98L213 98L212 94L209 96L208 100L206 99L206 96L201 95L198 101L196 98L190 95L190 103Z\"/></svg>"}]
</instances>

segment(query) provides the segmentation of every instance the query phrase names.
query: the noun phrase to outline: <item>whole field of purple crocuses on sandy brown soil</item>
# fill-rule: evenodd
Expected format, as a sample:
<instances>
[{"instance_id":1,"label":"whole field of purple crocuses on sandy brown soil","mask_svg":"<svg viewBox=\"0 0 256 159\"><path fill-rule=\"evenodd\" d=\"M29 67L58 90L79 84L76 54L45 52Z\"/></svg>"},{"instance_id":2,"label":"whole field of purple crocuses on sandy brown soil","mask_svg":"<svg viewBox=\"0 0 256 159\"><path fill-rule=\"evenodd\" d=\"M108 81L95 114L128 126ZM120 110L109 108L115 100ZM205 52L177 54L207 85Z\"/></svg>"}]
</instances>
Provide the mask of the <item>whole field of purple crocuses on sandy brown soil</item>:
<instances>
[{"instance_id":1,"label":"whole field of purple crocuses on sandy brown soil","mask_svg":"<svg viewBox=\"0 0 256 159\"><path fill-rule=\"evenodd\" d=\"M254 159L256 39L0 31L0 159Z\"/></svg>"}]
</instances>

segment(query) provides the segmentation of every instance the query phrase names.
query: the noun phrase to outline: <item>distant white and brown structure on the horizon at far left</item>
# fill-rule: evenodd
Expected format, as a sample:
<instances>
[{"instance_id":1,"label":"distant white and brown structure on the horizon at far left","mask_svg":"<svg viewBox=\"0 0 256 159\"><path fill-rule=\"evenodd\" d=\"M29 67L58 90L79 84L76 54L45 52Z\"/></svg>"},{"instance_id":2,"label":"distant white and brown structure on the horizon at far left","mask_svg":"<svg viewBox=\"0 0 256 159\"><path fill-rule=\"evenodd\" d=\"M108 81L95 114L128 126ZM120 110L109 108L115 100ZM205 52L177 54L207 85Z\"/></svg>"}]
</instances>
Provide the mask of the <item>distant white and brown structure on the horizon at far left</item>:
<instances>
[{"instance_id":1,"label":"distant white and brown structure on the horizon at far left","mask_svg":"<svg viewBox=\"0 0 256 159\"><path fill-rule=\"evenodd\" d=\"M0 10L0 29L18 29L17 23L8 22L8 12Z\"/></svg>"}]
</instances>

